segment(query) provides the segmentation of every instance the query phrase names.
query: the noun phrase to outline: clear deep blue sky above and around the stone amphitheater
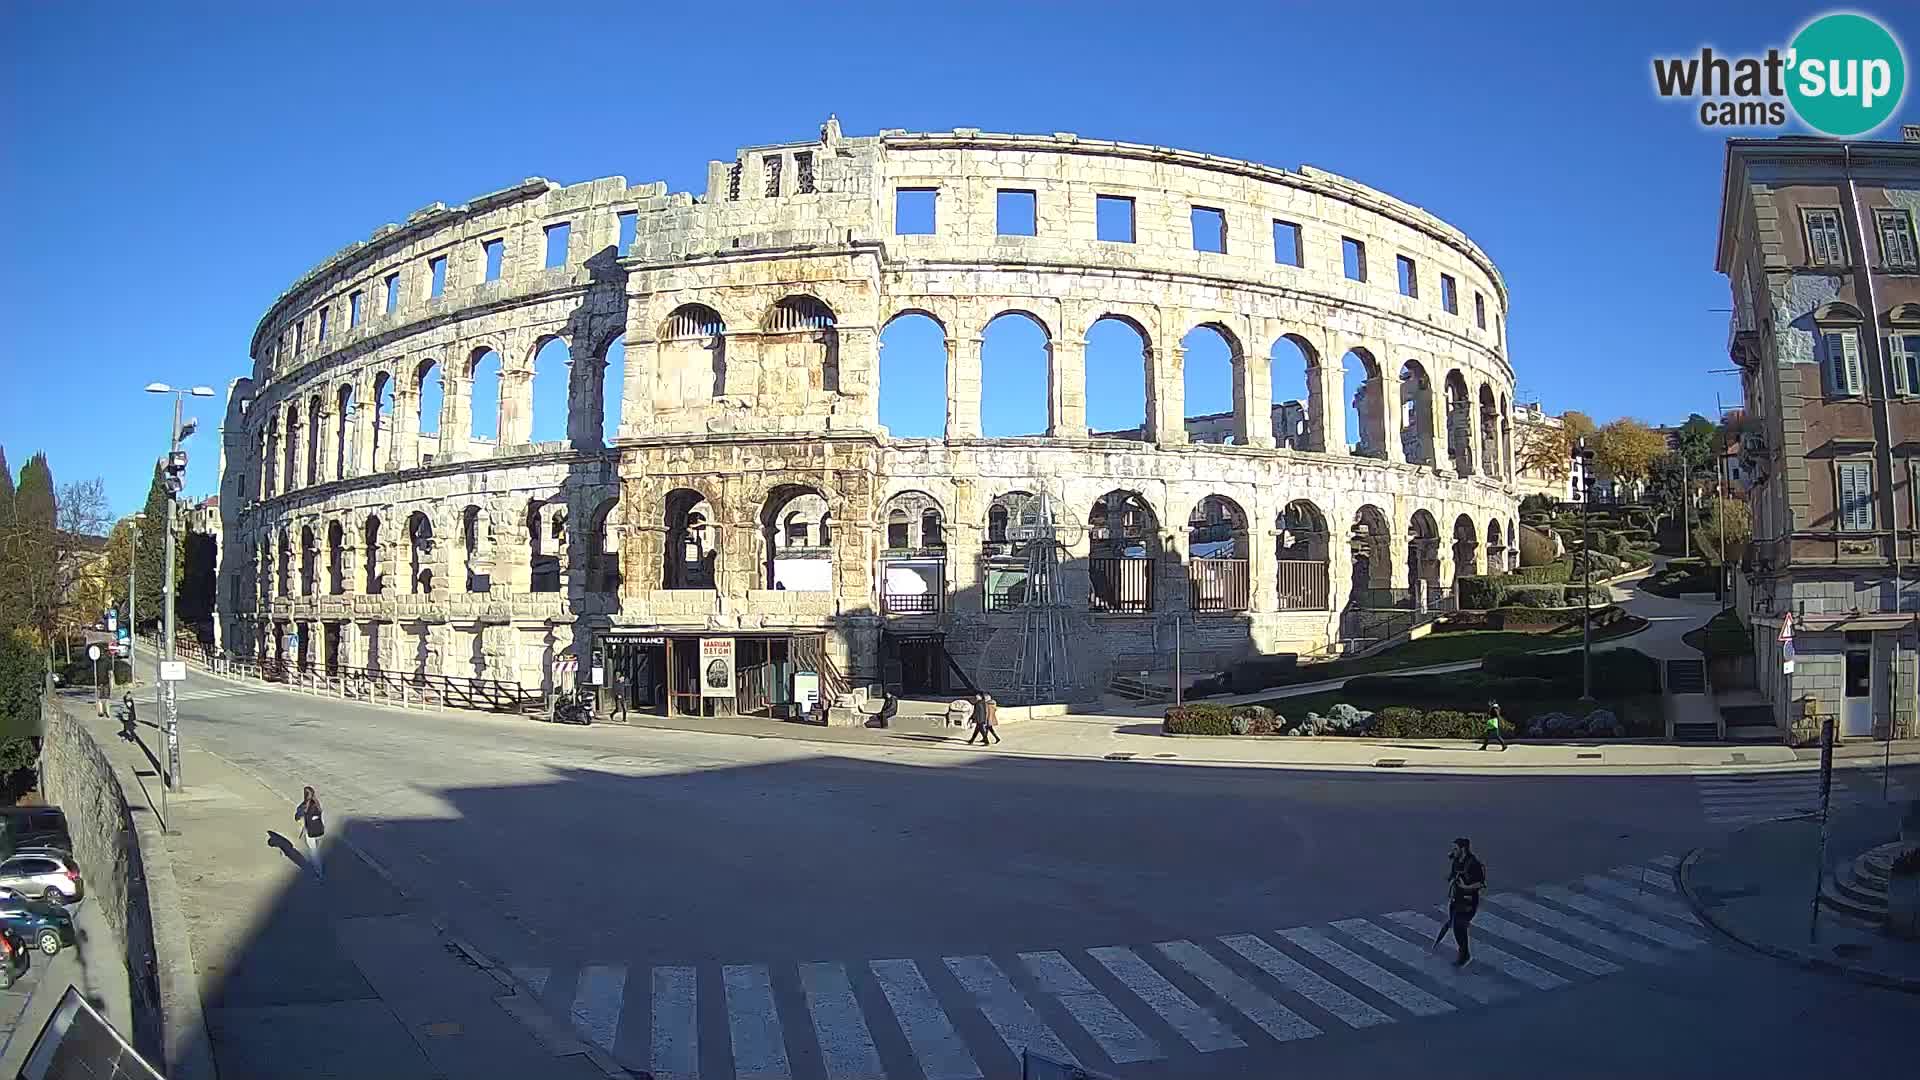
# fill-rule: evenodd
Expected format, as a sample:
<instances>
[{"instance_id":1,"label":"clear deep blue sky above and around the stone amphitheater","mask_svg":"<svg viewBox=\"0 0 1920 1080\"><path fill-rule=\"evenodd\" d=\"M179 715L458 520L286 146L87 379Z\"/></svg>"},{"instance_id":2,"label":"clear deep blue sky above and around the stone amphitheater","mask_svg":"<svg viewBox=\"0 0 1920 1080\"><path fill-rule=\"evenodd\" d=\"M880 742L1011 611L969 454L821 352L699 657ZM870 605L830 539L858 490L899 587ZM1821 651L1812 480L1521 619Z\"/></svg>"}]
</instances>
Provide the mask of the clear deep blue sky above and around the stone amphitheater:
<instances>
[{"instance_id":1,"label":"clear deep blue sky above and around the stone amphitheater","mask_svg":"<svg viewBox=\"0 0 1920 1080\"><path fill-rule=\"evenodd\" d=\"M140 386L225 398L280 288L378 225L530 175L699 190L708 160L810 136L828 113L851 135L1077 131L1344 173L1492 254L1523 398L1599 419L1711 413L1715 390L1738 396L1707 373L1726 367L1720 136L1653 96L1649 60L1784 44L1822 10L161 8L15 4L0 73L0 442L15 467L46 450L60 480L106 477L117 513L144 498L165 436ZM1866 10L1914 52L1920 19ZM1021 332L995 327L989 379ZM1129 407L1102 394L1096 427ZM219 400L200 415L196 494L215 482ZM989 432L1035 427L987 415Z\"/></svg>"}]
</instances>

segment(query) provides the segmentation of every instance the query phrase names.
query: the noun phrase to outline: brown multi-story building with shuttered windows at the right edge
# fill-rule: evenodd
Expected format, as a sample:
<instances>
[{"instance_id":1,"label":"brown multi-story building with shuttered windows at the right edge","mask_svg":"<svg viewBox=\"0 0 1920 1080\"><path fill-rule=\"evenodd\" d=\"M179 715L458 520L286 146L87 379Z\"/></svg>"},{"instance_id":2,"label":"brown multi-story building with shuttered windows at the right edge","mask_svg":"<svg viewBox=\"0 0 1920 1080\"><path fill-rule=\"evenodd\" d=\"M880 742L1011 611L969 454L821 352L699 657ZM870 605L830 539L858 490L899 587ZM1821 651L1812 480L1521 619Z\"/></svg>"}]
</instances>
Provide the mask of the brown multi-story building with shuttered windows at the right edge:
<instances>
[{"instance_id":1,"label":"brown multi-story building with shuttered windows at the right edge","mask_svg":"<svg viewBox=\"0 0 1920 1080\"><path fill-rule=\"evenodd\" d=\"M1736 575L1759 688L1803 734L1916 734L1920 144L1734 138L1734 290L1753 544ZM1793 663L1780 628L1791 615Z\"/></svg>"}]
</instances>

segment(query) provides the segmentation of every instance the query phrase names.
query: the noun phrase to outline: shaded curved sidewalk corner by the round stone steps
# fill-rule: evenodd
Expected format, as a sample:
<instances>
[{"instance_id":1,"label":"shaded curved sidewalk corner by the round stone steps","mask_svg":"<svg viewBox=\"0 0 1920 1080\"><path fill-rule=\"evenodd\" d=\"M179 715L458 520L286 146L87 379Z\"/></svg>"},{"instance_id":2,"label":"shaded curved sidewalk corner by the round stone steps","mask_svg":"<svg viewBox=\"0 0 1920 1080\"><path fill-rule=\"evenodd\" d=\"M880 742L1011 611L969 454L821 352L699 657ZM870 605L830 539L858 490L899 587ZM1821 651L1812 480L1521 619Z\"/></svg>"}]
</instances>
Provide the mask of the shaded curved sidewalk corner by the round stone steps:
<instances>
[{"instance_id":1,"label":"shaded curved sidewalk corner by the round stone steps","mask_svg":"<svg viewBox=\"0 0 1920 1080\"><path fill-rule=\"evenodd\" d=\"M1826 872L1899 838L1905 807L1836 811ZM1812 926L1816 819L1774 821L1680 863L1680 890L1711 926L1772 957L1920 994L1920 942L1864 930L1826 913ZM1809 938L1809 930L1814 936Z\"/></svg>"}]
</instances>

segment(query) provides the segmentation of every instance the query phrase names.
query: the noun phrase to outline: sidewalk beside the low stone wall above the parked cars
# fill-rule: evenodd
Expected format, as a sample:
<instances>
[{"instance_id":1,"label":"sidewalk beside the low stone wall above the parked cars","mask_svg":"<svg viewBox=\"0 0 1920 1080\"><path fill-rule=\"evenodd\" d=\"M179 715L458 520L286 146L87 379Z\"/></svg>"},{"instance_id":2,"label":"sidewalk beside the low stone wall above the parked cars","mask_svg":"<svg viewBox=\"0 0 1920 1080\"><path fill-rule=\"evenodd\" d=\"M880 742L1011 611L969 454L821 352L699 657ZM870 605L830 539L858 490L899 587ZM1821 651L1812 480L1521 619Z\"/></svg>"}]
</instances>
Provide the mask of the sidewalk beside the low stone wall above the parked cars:
<instances>
[{"instance_id":1,"label":"sidewalk beside the low stone wall above the parked cars","mask_svg":"<svg viewBox=\"0 0 1920 1080\"><path fill-rule=\"evenodd\" d=\"M111 719L90 719L88 730L129 798L144 790L157 803L148 749L117 738ZM142 740L157 748L152 726ZM349 821L328 821L326 880L317 880L294 801L298 792L267 790L205 749L169 799L167 847L221 1076L607 1076L578 1042L541 1045L516 1022L499 1001L511 984L342 844Z\"/></svg>"}]
</instances>

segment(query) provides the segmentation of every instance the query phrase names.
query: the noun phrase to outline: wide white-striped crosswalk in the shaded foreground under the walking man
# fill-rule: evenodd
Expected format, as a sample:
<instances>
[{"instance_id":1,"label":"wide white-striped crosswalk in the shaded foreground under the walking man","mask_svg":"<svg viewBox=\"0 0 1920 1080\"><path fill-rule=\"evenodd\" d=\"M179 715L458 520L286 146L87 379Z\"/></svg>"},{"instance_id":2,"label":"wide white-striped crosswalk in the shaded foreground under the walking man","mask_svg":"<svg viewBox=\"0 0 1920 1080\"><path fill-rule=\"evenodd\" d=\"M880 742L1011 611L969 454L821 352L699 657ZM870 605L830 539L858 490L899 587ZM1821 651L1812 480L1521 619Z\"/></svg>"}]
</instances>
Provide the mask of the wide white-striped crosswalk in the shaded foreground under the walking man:
<instances>
[{"instance_id":1,"label":"wide white-striped crosswalk in the shaded foreground under the walking man","mask_svg":"<svg viewBox=\"0 0 1920 1080\"><path fill-rule=\"evenodd\" d=\"M513 967L524 994L636 1070L678 1080L983 1080L1021 1051L1102 1070L1413 1022L1661 965L1707 945L1678 859L1492 894L1475 963L1444 913L1217 938L799 965Z\"/></svg>"}]
</instances>

